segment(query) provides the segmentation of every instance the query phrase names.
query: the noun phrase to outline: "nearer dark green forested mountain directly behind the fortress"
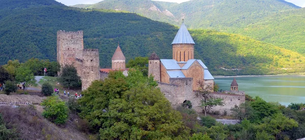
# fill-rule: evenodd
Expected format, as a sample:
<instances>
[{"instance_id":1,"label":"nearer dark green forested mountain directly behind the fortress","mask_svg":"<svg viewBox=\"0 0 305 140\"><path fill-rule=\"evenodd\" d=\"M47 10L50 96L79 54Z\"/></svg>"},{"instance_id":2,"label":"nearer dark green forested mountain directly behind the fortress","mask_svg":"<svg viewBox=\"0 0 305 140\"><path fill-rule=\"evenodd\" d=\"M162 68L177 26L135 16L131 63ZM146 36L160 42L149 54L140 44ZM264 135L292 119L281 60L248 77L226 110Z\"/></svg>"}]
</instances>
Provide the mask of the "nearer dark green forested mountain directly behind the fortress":
<instances>
[{"instance_id":1,"label":"nearer dark green forested mountain directly behind the fortress","mask_svg":"<svg viewBox=\"0 0 305 140\"><path fill-rule=\"evenodd\" d=\"M99 49L103 68L111 66L118 41L127 61L148 57L153 51L160 58L172 58L171 42L178 28L167 23L127 12L71 8L51 0L5 0L0 5L2 11L11 10L0 13L0 65L13 59L56 61L58 30L82 30L84 47ZM203 60L214 75L305 71L305 57L275 45L210 30L190 33L196 43L195 58Z\"/></svg>"}]
</instances>

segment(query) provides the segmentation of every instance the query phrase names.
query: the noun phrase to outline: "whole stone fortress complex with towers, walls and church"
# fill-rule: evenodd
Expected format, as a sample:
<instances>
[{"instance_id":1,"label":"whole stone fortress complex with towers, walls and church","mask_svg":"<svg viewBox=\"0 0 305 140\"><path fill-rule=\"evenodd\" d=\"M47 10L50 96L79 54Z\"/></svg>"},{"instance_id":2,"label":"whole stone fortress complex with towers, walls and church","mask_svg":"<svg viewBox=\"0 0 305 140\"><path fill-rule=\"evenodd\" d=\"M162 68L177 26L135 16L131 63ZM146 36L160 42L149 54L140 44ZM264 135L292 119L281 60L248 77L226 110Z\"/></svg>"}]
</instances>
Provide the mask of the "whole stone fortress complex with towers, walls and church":
<instances>
[{"instance_id":1,"label":"whole stone fortress complex with towers, walls and church","mask_svg":"<svg viewBox=\"0 0 305 140\"><path fill-rule=\"evenodd\" d=\"M212 107L220 114L230 114L230 108L245 102L245 93L238 91L234 78L231 91L213 92L214 77L201 60L194 59L194 45L187 27L181 24L173 42L173 59L160 59L153 52L148 59L148 75L154 76L158 87L173 107L186 100L192 102L193 108L202 112L202 97L196 96L198 89L204 89L214 98L222 98L225 106ZM100 69L99 50L84 49L83 32L57 32L57 62L60 66L73 65L82 80L82 90L86 90L94 80L104 80L110 71L120 70L128 75L126 59L118 45L113 57L111 69ZM60 74L60 72L58 73ZM201 85L199 85L201 83Z\"/></svg>"}]
</instances>

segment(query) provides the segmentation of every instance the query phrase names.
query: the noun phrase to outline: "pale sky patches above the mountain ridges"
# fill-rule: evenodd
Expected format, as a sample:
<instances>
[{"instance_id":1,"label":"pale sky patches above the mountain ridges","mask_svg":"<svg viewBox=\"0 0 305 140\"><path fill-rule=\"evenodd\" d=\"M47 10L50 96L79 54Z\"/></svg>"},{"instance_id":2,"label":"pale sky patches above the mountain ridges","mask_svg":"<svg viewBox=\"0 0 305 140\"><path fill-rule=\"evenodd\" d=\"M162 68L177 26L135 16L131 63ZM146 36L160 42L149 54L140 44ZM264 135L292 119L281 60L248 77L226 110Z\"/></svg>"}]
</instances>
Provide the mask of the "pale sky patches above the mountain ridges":
<instances>
[{"instance_id":1,"label":"pale sky patches above the mountain ridges","mask_svg":"<svg viewBox=\"0 0 305 140\"><path fill-rule=\"evenodd\" d=\"M55 0L55 1L65 4L67 6L77 5L77 4L95 4L101 2L101 0ZM158 1L182 3L190 0L158 0ZM293 3L299 7L305 7L304 0L285 0L285 1Z\"/></svg>"}]
</instances>

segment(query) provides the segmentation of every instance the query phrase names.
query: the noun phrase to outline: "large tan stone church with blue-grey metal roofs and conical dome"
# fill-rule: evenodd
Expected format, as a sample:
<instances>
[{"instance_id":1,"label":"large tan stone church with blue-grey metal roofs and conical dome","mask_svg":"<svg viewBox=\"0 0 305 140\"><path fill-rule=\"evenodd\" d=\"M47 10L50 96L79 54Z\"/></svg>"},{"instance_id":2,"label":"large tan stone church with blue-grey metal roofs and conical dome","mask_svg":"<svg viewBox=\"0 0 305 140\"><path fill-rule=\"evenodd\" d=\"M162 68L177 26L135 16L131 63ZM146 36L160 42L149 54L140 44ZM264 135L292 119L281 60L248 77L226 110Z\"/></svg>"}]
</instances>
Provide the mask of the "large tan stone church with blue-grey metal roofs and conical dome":
<instances>
[{"instance_id":1,"label":"large tan stone church with blue-grey metal roofs and conical dome","mask_svg":"<svg viewBox=\"0 0 305 140\"><path fill-rule=\"evenodd\" d=\"M193 78L193 90L198 90L201 83L204 89L212 91L214 77L201 60L194 59L194 45L192 36L182 22L172 42L173 59L160 59L153 52L148 59L148 75L163 83L171 83L171 78Z\"/></svg>"}]
</instances>

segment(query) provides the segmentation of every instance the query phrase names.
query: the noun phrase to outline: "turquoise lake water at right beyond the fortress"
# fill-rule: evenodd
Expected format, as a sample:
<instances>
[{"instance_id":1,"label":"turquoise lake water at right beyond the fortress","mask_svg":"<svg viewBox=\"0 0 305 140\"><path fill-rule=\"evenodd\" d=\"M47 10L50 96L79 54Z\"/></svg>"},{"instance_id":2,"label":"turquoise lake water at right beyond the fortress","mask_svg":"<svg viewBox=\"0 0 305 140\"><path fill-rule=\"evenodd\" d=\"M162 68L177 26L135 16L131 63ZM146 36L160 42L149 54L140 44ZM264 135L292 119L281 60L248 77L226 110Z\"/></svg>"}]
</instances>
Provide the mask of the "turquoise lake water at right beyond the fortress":
<instances>
[{"instance_id":1,"label":"turquoise lake water at right beyond the fortress","mask_svg":"<svg viewBox=\"0 0 305 140\"><path fill-rule=\"evenodd\" d=\"M219 90L230 90L233 77L215 78ZM305 76L236 77L238 90L267 102L305 103Z\"/></svg>"}]
</instances>

